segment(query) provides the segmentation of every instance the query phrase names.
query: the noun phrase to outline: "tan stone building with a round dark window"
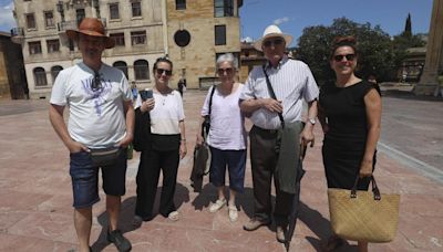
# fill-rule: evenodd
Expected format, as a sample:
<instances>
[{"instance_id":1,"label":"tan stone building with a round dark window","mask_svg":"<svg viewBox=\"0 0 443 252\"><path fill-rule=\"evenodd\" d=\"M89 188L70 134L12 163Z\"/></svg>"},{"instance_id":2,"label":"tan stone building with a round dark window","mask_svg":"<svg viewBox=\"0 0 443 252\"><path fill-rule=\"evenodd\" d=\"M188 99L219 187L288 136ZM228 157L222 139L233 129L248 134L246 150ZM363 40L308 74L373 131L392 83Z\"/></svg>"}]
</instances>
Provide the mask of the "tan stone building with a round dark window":
<instances>
[{"instance_id":1,"label":"tan stone building with a round dark window","mask_svg":"<svg viewBox=\"0 0 443 252\"><path fill-rule=\"evenodd\" d=\"M239 60L241 6L243 0L167 0L173 82L183 77L188 88L206 88L216 81L219 54L230 52Z\"/></svg>"}]
</instances>

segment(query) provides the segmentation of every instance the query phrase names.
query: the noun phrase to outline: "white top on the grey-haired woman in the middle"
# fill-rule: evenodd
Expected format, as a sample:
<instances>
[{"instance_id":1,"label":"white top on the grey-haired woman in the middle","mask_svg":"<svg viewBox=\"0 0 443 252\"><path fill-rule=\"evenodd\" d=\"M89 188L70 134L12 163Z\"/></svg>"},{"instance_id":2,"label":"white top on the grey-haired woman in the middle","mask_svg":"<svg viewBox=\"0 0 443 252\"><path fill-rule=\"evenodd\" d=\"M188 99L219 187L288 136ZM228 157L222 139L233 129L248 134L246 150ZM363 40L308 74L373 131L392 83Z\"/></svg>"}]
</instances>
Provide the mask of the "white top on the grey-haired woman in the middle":
<instances>
[{"instance_id":1,"label":"white top on the grey-haired woman in the middle","mask_svg":"<svg viewBox=\"0 0 443 252\"><path fill-rule=\"evenodd\" d=\"M239 106L243 86L243 84L239 84L237 90L229 95L220 94L217 88L214 92L210 108L210 129L207 137L208 145L214 148L223 150L246 149L245 117L241 115ZM206 95L202 116L209 114L209 97L213 88L210 87Z\"/></svg>"}]
</instances>

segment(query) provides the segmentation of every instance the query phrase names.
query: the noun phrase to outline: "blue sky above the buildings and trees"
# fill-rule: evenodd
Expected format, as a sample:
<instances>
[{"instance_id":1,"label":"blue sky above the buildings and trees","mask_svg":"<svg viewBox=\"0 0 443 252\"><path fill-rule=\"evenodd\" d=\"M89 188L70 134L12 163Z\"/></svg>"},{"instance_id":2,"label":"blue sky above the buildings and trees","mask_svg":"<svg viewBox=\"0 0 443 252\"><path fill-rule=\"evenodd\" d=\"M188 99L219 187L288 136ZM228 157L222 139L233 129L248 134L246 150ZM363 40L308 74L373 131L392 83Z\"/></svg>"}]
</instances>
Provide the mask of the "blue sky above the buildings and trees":
<instances>
[{"instance_id":1,"label":"blue sky above the buildings and trees","mask_svg":"<svg viewBox=\"0 0 443 252\"><path fill-rule=\"evenodd\" d=\"M209 1L209 0L208 0ZM297 44L303 28L330 25L333 19L346 17L358 23L380 24L390 35L404 29L408 13L412 17L412 32L427 33L432 0L244 0L240 9L241 38L261 36L265 28L278 23L293 35ZM0 31L16 27L12 0L0 0Z\"/></svg>"}]
</instances>

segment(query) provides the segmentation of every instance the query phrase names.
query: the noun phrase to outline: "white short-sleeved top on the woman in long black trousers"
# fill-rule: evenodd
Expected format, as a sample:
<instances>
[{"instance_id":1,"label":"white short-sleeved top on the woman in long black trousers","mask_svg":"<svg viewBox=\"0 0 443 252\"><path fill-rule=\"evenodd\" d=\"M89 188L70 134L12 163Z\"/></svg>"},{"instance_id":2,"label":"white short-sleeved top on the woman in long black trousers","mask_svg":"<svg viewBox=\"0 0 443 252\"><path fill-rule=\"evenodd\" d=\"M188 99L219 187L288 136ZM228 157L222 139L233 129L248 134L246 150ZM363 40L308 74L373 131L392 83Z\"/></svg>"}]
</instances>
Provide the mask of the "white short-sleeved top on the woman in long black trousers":
<instances>
[{"instance_id":1,"label":"white short-sleeved top on the woman in long black trousers","mask_svg":"<svg viewBox=\"0 0 443 252\"><path fill-rule=\"evenodd\" d=\"M177 91L168 94L153 93L155 105L150 112L151 133L158 135L181 134L178 122L185 119L182 95ZM142 105L140 94L135 107Z\"/></svg>"}]
</instances>

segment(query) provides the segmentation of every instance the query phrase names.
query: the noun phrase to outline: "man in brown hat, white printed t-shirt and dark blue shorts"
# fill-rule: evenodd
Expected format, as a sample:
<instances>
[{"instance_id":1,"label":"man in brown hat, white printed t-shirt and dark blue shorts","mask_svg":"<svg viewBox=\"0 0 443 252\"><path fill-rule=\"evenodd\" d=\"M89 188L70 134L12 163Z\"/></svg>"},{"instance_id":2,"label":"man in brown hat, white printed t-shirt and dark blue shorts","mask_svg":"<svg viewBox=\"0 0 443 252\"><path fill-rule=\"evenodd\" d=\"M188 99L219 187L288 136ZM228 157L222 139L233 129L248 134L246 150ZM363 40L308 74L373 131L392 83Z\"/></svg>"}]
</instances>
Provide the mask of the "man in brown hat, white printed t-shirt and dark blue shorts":
<instances>
[{"instance_id":1,"label":"man in brown hat, white printed t-shirt and dark blue shorts","mask_svg":"<svg viewBox=\"0 0 443 252\"><path fill-rule=\"evenodd\" d=\"M109 213L107 241L119 251L130 251L131 243L117 229L121 196L125 193L126 147L133 139L134 108L127 80L122 71L102 62L105 49L114 41L105 35L97 19L85 18L79 31L66 35L78 43L83 62L60 72L51 94L51 124L70 150L70 175L73 188L74 225L79 251L92 251L90 233L92 206L100 200L99 169ZM63 111L69 107L68 126ZM106 164L95 154L115 154Z\"/></svg>"}]
</instances>

